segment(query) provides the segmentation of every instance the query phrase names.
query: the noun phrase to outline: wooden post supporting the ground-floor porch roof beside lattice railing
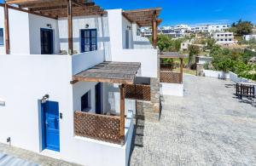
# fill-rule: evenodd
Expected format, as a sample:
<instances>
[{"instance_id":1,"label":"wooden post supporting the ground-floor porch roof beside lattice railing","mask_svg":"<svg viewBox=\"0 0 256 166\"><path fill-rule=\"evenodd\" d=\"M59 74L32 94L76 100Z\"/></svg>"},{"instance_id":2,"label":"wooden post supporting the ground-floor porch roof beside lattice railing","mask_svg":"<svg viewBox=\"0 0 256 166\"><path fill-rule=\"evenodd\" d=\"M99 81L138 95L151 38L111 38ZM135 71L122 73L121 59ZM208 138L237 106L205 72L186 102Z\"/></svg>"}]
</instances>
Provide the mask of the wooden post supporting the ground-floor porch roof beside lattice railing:
<instances>
[{"instance_id":1,"label":"wooden post supporting the ground-floor porch roof beside lattice railing","mask_svg":"<svg viewBox=\"0 0 256 166\"><path fill-rule=\"evenodd\" d=\"M120 135L125 136L125 93L124 84L119 85L120 89Z\"/></svg>"}]
</instances>

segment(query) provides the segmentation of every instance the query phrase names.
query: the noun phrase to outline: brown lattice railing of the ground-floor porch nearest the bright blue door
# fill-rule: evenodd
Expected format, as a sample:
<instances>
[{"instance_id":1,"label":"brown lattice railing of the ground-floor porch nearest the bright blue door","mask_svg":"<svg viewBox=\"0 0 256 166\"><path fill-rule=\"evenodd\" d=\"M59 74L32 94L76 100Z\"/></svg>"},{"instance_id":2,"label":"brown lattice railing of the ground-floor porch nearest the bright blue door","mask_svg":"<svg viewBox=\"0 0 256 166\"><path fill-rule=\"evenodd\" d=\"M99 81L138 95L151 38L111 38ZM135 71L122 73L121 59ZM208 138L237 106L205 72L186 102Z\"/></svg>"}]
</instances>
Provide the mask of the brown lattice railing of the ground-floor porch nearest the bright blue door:
<instances>
[{"instance_id":1,"label":"brown lattice railing of the ground-floor porch nearest the bright blue door","mask_svg":"<svg viewBox=\"0 0 256 166\"><path fill-rule=\"evenodd\" d=\"M115 144L124 142L120 136L120 117L74 112L75 135Z\"/></svg>"}]
</instances>

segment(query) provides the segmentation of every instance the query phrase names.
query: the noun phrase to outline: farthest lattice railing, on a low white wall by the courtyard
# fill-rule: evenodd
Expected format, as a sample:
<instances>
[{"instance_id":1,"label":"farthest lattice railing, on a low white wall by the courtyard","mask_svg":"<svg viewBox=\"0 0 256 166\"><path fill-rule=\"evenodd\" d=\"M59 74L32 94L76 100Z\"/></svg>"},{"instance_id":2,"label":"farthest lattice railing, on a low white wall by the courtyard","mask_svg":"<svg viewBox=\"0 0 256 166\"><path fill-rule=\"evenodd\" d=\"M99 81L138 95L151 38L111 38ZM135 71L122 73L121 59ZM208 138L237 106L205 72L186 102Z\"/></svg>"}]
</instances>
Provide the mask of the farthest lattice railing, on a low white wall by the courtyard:
<instances>
[{"instance_id":1,"label":"farthest lattice railing, on a low white wall by the courtyard","mask_svg":"<svg viewBox=\"0 0 256 166\"><path fill-rule=\"evenodd\" d=\"M183 74L160 71L160 83L182 83Z\"/></svg>"}]
</instances>

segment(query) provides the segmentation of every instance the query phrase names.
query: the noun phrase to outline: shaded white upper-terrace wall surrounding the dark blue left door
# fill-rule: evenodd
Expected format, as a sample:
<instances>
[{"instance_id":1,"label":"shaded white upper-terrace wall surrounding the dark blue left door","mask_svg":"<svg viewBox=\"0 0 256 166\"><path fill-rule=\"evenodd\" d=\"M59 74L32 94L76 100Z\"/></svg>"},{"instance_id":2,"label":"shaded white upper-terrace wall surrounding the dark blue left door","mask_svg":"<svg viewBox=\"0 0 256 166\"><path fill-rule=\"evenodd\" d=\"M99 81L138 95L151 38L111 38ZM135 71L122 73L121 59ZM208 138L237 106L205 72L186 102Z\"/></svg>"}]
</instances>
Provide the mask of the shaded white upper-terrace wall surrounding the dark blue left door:
<instances>
[{"instance_id":1,"label":"shaded white upper-terrace wall surrounding the dark blue left door","mask_svg":"<svg viewBox=\"0 0 256 166\"><path fill-rule=\"evenodd\" d=\"M41 54L41 28L53 30L54 54L60 52L58 21L46 17L28 14L29 18L29 36L30 36L30 54ZM48 27L47 24L52 27Z\"/></svg>"}]
</instances>

